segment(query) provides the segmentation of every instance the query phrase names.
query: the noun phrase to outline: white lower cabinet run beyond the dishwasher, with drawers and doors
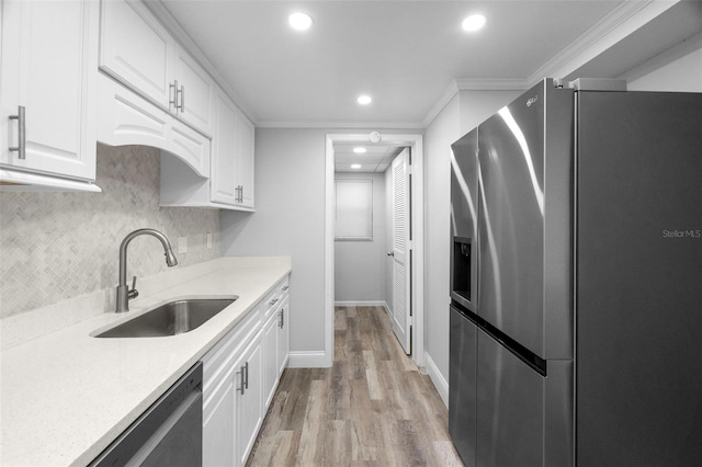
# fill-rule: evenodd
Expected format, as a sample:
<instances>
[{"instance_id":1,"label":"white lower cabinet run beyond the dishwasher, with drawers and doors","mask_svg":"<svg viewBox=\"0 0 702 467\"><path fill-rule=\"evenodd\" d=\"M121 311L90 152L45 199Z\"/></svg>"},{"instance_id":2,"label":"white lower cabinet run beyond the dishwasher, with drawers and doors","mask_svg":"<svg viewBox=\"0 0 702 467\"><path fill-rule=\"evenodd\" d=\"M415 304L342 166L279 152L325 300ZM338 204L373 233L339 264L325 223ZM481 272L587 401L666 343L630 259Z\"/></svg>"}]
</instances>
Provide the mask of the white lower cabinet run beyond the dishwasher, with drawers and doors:
<instances>
[{"instance_id":1,"label":"white lower cabinet run beyond the dishwasher, with drawers and doors","mask_svg":"<svg viewBox=\"0 0 702 467\"><path fill-rule=\"evenodd\" d=\"M276 284L202 358L205 467L244 466L251 453L287 362L287 284Z\"/></svg>"}]
</instances>

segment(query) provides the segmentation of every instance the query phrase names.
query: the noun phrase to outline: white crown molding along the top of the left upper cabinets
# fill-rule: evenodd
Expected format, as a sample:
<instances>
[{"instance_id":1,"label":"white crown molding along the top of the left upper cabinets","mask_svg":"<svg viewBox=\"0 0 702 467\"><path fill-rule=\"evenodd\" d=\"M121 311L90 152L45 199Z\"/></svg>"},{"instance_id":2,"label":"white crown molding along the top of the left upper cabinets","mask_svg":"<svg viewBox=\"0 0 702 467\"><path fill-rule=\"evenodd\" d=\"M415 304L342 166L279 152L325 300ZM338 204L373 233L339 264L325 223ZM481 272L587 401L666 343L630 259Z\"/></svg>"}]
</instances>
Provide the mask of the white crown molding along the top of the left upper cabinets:
<instances>
[{"instance_id":1,"label":"white crown molding along the top of the left upper cabinets","mask_svg":"<svg viewBox=\"0 0 702 467\"><path fill-rule=\"evenodd\" d=\"M249 121L253 122L256 125L254 114L249 109L241 99L239 99L238 94L231 89L231 87L227 83L227 80L217 71L217 69L212 65L212 62L207 59L202 49L195 44L192 37L183 30L183 27L176 21L170 11L163 5L161 0L144 0L146 7L158 18L158 20L166 26L169 33L178 41L178 43L183 47L188 53L190 53L195 61L200 64L212 78L215 80L217 86L224 90L224 92L231 99L231 101L236 104L237 107L246 115ZM258 125L256 125L258 126Z\"/></svg>"}]
</instances>

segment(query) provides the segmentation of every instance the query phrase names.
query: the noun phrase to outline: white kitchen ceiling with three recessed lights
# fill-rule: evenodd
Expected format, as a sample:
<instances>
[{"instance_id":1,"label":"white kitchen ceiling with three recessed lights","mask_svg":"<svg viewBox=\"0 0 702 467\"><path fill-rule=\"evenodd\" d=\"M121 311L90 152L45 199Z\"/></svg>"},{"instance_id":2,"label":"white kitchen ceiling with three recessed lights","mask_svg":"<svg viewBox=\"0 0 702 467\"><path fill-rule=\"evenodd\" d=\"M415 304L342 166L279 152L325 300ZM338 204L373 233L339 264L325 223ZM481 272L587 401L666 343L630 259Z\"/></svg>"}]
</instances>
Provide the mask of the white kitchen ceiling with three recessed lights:
<instances>
[{"instance_id":1,"label":"white kitchen ceiling with three recessed lights","mask_svg":"<svg viewBox=\"0 0 702 467\"><path fill-rule=\"evenodd\" d=\"M456 88L525 89L544 76L565 77L591 62L576 58L612 30L646 24L646 8L664 12L676 3L152 0L151 8L171 16L167 23L203 53L259 127L424 128ZM649 32L645 50L618 50L619 59L610 54L590 69L612 75L612 67L636 66L701 31L702 2L688 3L698 5L692 23L690 12L682 14L684 25ZM313 16L310 30L288 27L294 11ZM471 13L487 16L484 30L462 30ZM359 105L360 93L373 102Z\"/></svg>"}]
</instances>

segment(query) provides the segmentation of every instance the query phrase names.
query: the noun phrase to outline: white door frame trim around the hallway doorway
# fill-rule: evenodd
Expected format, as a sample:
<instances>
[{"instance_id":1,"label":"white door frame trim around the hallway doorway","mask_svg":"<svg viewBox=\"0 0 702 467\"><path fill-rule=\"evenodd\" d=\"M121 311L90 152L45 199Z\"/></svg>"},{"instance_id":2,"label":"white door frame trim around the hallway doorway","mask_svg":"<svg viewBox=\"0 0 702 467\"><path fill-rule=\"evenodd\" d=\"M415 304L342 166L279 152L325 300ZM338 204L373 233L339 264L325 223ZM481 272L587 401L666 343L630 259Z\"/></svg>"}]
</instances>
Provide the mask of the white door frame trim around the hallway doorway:
<instances>
[{"instance_id":1,"label":"white door frame trim around the hallway doorway","mask_svg":"<svg viewBox=\"0 0 702 467\"><path fill-rule=\"evenodd\" d=\"M372 136L376 136L372 143ZM326 365L333 363L335 338L335 219L336 219L336 166L337 153L342 157L342 151L349 146L385 147L395 148L398 153L407 148L407 258L406 276L408 310L411 310L410 321L407 322L406 349L411 341L411 357L419 366L423 366L423 190L422 190L422 136L417 134L329 134L326 140L326 213L325 213L325 357ZM411 155L411 156L409 156ZM409 160L411 159L411 163ZM387 170L393 170L388 167ZM348 178L348 176L347 176ZM359 178L363 178L360 175ZM386 193L393 193L392 190ZM390 203L392 205L392 203ZM387 216L386 216L387 217ZM397 216L395 216L397 217ZM389 228L389 226L387 226ZM410 234L411 232L411 234ZM395 248L385 248L388 259L398 252ZM398 254L399 257L399 254ZM371 305L371 304L369 304ZM388 304L390 307L393 304ZM401 324L405 322L400 322ZM397 333L397 332L396 332ZM403 334L397 333L400 343ZM405 344L403 344L405 346Z\"/></svg>"}]
</instances>

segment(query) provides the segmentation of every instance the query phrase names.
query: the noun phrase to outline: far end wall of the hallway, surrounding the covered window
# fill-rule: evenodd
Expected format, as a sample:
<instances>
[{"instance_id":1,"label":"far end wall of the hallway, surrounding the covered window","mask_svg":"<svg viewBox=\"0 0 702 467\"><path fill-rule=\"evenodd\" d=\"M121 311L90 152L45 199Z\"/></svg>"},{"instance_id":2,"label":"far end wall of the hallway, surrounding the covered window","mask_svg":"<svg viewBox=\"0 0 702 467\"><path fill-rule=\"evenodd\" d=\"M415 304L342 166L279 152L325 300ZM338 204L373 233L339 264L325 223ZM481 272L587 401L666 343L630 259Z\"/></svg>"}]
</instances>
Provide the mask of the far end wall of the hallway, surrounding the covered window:
<instances>
[{"instance_id":1,"label":"far end wall of the hallway, surrounding the covered window","mask_svg":"<svg viewBox=\"0 0 702 467\"><path fill-rule=\"evenodd\" d=\"M335 241L335 301L385 300L385 174L337 172L337 180L373 181L373 240Z\"/></svg>"}]
</instances>

